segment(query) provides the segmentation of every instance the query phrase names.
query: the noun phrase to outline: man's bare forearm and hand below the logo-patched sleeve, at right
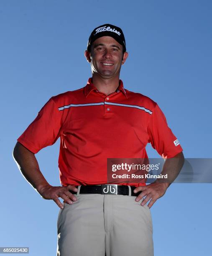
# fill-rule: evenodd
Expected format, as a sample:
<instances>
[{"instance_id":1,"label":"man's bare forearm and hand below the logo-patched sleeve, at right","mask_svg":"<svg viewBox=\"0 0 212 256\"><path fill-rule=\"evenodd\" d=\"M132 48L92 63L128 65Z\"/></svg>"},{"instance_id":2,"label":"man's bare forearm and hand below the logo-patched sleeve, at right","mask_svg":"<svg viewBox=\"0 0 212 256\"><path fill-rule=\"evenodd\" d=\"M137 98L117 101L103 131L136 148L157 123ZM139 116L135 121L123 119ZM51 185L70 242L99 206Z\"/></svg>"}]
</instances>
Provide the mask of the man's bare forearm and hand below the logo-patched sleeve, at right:
<instances>
[{"instance_id":1,"label":"man's bare forearm and hand below the logo-patched sleeve, at right","mask_svg":"<svg viewBox=\"0 0 212 256\"><path fill-rule=\"evenodd\" d=\"M167 174L168 179L156 179L156 181L149 185L137 187L134 189L134 193L139 191L142 192L138 195L138 197L135 198L135 200L138 202L142 197L146 196L145 199L141 202L141 205L145 205L151 199L148 204L148 207L151 208L156 200L165 194L166 189L170 186L170 184L174 182L183 164L184 155L182 152L173 158L166 159L161 174Z\"/></svg>"}]
</instances>

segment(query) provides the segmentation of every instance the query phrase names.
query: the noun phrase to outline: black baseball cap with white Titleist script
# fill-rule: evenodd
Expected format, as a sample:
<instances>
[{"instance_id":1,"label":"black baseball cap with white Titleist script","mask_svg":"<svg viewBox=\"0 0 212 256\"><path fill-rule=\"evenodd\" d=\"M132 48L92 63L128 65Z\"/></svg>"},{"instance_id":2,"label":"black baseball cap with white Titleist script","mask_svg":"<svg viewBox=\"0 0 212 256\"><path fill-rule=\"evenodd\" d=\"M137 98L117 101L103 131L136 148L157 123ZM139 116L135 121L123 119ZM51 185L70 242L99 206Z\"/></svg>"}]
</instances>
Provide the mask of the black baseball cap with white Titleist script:
<instances>
[{"instance_id":1,"label":"black baseball cap with white Titleist script","mask_svg":"<svg viewBox=\"0 0 212 256\"><path fill-rule=\"evenodd\" d=\"M95 28L88 39L87 50L90 51L91 44L102 36L111 36L114 38L119 44L123 46L124 52L126 51L126 43L123 31L121 28L111 25L104 24Z\"/></svg>"}]
</instances>

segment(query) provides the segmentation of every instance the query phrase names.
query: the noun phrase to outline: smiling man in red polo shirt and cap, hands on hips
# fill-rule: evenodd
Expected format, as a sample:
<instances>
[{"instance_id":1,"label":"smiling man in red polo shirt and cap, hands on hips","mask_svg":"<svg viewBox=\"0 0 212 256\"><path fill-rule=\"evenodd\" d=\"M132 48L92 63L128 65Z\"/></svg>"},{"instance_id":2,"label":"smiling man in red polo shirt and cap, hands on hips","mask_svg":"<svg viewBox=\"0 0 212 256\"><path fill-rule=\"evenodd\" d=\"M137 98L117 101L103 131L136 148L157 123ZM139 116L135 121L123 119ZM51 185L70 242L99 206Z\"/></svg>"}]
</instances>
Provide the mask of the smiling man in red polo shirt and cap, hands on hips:
<instances>
[{"instance_id":1,"label":"smiling man in red polo shirt and cap, hands on hips","mask_svg":"<svg viewBox=\"0 0 212 256\"><path fill-rule=\"evenodd\" d=\"M84 55L92 78L79 90L51 97L18 138L14 158L38 193L61 208L58 256L152 256L149 208L179 174L182 148L156 102L124 89L119 76L128 53L120 28L95 28ZM54 187L34 154L59 137L62 187ZM148 142L166 159L162 173L169 181L107 185L107 159L146 159Z\"/></svg>"}]
</instances>

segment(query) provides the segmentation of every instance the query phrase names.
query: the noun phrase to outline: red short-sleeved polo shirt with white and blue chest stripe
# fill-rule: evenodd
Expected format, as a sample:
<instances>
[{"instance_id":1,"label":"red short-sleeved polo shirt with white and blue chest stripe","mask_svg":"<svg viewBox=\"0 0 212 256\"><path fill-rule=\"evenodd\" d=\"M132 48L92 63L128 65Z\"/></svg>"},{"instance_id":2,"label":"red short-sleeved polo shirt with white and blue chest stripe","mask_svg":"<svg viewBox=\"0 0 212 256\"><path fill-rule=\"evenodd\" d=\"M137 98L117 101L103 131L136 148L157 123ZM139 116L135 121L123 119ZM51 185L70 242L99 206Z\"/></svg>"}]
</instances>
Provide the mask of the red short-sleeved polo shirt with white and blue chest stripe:
<instances>
[{"instance_id":1,"label":"red short-sleeved polo shirt with white and blue chest stripe","mask_svg":"<svg viewBox=\"0 0 212 256\"><path fill-rule=\"evenodd\" d=\"M163 158L182 151L156 102L124 89L121 80L108 96L91 81L79 90L51 97L18 138L36 154L60 137L63 186L106 184L107 158L147 158L148 142Z\"/></svg>"}]
</instances>

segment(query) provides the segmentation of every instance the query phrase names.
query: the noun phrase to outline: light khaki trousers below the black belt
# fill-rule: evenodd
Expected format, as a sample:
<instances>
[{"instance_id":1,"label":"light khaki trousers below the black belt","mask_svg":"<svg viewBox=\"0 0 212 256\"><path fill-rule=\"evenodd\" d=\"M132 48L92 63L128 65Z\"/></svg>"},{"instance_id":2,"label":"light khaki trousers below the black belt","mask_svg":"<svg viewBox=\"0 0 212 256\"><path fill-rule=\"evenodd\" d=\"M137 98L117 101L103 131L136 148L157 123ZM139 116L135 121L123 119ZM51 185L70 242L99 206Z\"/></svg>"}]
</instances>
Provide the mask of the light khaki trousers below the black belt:
<instances>
[{"instance_id":1,"label":"light khaki trousers below the black belt","mask_svg":"<svg viewBox=\"0 0 212 256\"><path fill-rule=\"evenodd\" d=\"M140 202L78 192L59 211L57 256L153 256L151 212Z\"/></svg>"}]
</instances>

